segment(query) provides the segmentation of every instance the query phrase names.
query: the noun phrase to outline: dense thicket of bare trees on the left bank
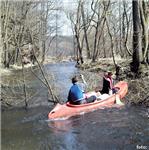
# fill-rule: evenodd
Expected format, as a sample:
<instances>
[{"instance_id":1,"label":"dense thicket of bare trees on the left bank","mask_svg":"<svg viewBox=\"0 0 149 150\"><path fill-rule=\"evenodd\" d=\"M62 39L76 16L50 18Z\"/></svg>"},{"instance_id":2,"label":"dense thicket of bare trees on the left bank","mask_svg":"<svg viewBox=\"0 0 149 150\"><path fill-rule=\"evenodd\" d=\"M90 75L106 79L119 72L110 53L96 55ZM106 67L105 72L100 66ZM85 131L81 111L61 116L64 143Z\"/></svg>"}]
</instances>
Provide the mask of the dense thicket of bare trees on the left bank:
<instances>
[{"instance_id":1,"label":"dense thicket of bare trees on the left bank","mask_svg":"<svg viewBox=\"0 0 149 150\"><path fill-rule=\"evenodd\" d=\"M1 1L2 64L44 61L46 41L55 31L55 1Z\"/></svg>"}]
</instances>

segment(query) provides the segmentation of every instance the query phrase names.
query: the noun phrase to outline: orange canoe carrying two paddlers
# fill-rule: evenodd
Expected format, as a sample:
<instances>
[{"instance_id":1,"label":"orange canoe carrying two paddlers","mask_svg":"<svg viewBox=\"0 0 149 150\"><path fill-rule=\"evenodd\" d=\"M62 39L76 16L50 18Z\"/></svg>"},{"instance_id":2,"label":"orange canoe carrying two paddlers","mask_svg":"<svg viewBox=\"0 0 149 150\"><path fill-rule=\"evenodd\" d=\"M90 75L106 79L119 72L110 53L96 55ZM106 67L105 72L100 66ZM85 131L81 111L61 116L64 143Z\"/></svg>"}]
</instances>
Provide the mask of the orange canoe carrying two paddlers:
<instances>
[{"instance_id":1,"label":"orange canoe carrying two paddlers","mask_svg":"<svg viewBox=\"0 0 149 150\"><path fill-rule=\"evenodd\" d=\"M54 109L48 114L48 118L50 120L55 119L67 119L71 116L81 115L87 112L91 112L100 108L110 107L115 104L116 97L118 96L122 99L128 92L128 84L127 82L120 81L115 85L116 88L119 89L117 94L113 94L108 96L102 100L96 100L93 103L81 104L81 105L73 105L68 103L65 104L57 104ZM96 92L86 93L87 95L96 95Z\"/></svg>"}]
</instances>

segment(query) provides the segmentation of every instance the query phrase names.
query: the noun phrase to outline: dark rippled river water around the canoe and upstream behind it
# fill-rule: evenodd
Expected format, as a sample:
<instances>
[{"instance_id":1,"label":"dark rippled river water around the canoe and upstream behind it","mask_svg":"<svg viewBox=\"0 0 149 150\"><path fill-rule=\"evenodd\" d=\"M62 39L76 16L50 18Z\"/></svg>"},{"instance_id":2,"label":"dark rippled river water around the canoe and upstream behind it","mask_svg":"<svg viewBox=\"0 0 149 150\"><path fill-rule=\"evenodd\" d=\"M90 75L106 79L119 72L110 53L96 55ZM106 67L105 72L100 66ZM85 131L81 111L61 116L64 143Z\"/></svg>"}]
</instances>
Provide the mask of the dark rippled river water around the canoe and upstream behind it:
<instances>
[{"instance_id":1,"label":"dark rippled river water around the canoe and upstream behind it","mask_svg":"<svg viewBox=\"0 0 149 150\"><path fill-rule=\"evenodd\" d=\"M52 81L56 82L55 87L62 99L67 97L71 77L80 72L74 66L74 63L45 66L47 74L54 76ZM21 78L21 72L13 74L13 82L11 78L5 76L2 80L9 79L9 85L15 87L14 79ZM47 114L53 105L47 101L46 88L31 74L26 79L28 89L35 94L27 110L2 111L2 150L149 149L149 112L146 108L108 108L67 120L48 121Z\"/></svg>"}]
</instances>

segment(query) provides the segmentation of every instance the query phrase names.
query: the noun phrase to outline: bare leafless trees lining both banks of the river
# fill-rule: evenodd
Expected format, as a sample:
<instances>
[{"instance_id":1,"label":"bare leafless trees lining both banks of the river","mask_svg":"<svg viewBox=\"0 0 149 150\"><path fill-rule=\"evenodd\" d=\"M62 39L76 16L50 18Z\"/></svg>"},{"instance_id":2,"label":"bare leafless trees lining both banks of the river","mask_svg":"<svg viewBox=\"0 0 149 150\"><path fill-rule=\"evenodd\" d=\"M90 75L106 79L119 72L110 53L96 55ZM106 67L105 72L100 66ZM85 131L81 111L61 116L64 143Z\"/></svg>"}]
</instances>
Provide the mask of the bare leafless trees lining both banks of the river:
<instances>
[{"instance_id":1,"label":"bare leafless trees lining both banks of the river","mask_svg":"<svg viewBox=\"0 0 149 150\"><path fill-rule=\"evenodd\" d=\"M149 64L148 0L74 0L67 16L71 21L77 63L85 58L132 58L134 72L141 63ZM2 63L41 62L57 39L57 0L1 1ZM60 26L60 25L59 25ZM47 40L49 40L47 44ZM133 42L132 42L133 41ZM56 42L57 48L57 42Z\"/></svg>"}]
</instances>

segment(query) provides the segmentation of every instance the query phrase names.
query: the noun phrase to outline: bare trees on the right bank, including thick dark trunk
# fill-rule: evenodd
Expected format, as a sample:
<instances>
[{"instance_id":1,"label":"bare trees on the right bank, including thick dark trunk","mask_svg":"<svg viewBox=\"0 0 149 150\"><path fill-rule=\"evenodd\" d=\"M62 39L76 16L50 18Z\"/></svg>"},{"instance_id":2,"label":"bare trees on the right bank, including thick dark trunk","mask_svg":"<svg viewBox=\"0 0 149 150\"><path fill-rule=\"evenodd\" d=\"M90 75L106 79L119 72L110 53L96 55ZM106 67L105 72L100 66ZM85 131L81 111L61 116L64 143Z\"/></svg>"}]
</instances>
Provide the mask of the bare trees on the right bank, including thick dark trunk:
<instances>
[{"instance_id":1,"label":"bare trees on the right bank, including thick dark trunk","mask_svg":"<svg viewBox=\"0 0 149 150\"><path fill-rule=\"evenodd\" d=\"M131 58L132 71L140 63L149 64L148 0L79 0L73 12L78 61L87 57L92 62L101 57Z\"/></svg>"}]
</instances>

